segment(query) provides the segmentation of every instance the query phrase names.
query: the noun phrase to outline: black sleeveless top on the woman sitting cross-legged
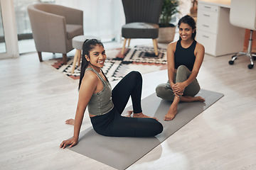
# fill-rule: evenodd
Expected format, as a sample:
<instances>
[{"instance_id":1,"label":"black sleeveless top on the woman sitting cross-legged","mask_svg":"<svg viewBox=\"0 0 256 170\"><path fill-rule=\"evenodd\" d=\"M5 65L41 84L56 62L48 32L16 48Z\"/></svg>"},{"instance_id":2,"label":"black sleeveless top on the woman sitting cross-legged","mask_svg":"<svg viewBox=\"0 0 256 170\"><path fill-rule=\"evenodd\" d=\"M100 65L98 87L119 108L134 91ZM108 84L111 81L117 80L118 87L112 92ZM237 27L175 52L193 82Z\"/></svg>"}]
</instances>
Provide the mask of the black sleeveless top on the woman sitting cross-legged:
<instances>
[{"instance_id":1,"label":"black sleeveless top on the woman sitting cross-legged","mask_svg":"<svg viewBox=\"0 0 256 170\"><path fill-rule=\"evenodd\" d=\"M194 40L188 48L183 48L181 46L181 40L178 40L176 45L176 50L174 52L174 63L175 69L178 69L180 65L186 66L190 71L193 69L193 64L195 63L195 48L196 40Z\"/></svg>"}]
</instances>

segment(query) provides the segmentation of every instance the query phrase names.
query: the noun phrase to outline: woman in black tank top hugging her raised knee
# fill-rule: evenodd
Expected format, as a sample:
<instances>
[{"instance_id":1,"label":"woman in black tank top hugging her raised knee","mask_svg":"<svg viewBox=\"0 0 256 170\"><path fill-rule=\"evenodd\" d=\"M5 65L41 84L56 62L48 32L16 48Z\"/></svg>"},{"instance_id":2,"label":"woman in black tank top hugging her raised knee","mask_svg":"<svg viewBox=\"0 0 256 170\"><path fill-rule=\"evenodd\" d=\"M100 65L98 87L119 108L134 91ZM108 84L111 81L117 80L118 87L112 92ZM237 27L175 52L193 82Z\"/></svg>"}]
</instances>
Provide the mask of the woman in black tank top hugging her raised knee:
<instances>
[{"instance_id":1,"label":"woman in black tank top hugging her raised knee","mask_svg":"<svg viewBox=\"0 0 256 170\"><path fill-rule=\"evenodd\" d=\"M164 120L173 120L179 101L205 101L196 96L200 86L196 79L204 57L204 47L196 42L196 22L191 16L183 16L178 21L179 40L167 47L169 81L156 87L156 95L172 101Z\"/></svg>"}]
</instances>

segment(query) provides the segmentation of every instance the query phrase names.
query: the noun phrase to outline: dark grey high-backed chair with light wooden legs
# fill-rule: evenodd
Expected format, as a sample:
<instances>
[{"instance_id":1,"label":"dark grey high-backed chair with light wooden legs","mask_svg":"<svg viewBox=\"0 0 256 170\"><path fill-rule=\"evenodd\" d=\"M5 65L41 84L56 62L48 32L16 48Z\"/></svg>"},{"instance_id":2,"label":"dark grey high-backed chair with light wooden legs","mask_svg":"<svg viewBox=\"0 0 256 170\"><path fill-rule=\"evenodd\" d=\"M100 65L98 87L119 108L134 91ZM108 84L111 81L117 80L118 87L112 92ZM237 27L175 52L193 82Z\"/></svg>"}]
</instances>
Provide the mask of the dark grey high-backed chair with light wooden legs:
<instances>
[{"instance_id":1,"label":"dark grey high-backed chair with light wooden legs","mask_svg":"<svg viewBox=\"0 0 256 170\"><path fill-rule=\"evenodd\" d=\"M163 0L122 0L126 24L122 26L124 45L121 54L124 54L125 45L128 46L131 38L152 38L155 55L159 35L159 17Z\"/></svg>"}]
</instances>

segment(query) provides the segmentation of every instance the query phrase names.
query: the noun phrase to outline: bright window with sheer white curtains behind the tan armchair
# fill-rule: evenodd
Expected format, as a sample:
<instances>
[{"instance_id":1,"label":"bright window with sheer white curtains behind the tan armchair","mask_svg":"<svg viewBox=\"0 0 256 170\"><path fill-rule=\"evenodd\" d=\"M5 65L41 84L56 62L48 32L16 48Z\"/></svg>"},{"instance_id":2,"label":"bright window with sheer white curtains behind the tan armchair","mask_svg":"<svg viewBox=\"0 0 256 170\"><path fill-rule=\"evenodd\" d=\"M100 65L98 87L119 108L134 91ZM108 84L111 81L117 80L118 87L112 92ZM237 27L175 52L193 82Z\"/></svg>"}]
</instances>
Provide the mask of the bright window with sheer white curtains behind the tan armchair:
<instances>
[{"instance_id":1,"label":"bright window with sheer white curtains behind the tan armchair","mask_svg":"<svg viewBox=\"0 0 256 170\"><path fill-rule=\"evenodd\" d=\"M78 8L84 13L85 35L100 37L102 42L119 41L121 39L121 27L125 23L122 1L14 0L18 51L20 54L36 51L27 11L28 5L35 3L58 4L70 8Z\"/></svg>"}]
</instances>

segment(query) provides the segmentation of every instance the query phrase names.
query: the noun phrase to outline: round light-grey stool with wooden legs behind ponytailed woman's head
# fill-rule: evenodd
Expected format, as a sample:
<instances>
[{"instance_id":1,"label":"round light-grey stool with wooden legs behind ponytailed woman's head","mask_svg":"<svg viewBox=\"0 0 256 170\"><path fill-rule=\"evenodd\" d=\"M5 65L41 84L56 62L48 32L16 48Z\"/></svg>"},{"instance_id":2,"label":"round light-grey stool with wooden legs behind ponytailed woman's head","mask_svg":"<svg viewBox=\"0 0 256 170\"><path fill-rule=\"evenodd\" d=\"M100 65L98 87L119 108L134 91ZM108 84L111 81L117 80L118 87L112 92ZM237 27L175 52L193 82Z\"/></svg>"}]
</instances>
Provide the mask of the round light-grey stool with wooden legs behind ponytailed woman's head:
<instances>
[{"instance_id":1,"label":"round light-grey stool with wooden legs behind ponytailed woman's head","mask_svg":"<svg viewBox=\"0 0 256 170\"><path fill-rule=\"evenodd\" d=\"M72 39L72 46L76 49L74 61L73 61L73 67L71 73L74 73L75 65L78 62L78 67L80 66L80 60L81 60L81 51L82 51L82 44L85 42L86 39L97 39L100 40L100 38L97 38L95 36L90 35L78 35Z\"/></svg>"}]
</instances>

